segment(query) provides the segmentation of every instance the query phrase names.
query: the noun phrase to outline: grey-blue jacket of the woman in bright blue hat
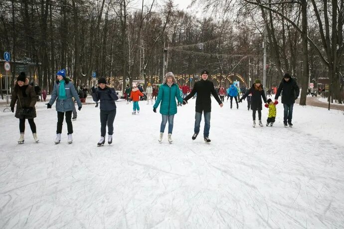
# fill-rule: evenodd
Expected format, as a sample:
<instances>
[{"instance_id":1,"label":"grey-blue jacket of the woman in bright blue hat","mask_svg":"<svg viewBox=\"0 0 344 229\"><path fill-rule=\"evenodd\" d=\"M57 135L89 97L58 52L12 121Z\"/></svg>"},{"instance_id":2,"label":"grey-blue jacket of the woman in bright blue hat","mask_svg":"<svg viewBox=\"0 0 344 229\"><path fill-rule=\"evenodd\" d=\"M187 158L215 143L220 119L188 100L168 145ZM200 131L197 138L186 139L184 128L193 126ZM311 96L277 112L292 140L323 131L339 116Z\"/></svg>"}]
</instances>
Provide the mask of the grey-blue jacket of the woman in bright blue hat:
<instances>
[{"instance_id":1,"label":"grey-blue jacket of the woman in bright blue hat","mask_svg":"<svg viewBox=\"0 0 344 229\"><path fill-rule=\"evenodd\" d=\"M64 89L66 90L66 99L60 100L58 98L60 94L60 82L56 81L52 89L51 98L49 104L52 106L56 100L56 111L57 112L68 112L73 111L74 102L72 97L76 100L78 107L82 107L78 93L76 92L74 85L70 82L69 78L65 78Z\"/></svg>"}]
</instances>

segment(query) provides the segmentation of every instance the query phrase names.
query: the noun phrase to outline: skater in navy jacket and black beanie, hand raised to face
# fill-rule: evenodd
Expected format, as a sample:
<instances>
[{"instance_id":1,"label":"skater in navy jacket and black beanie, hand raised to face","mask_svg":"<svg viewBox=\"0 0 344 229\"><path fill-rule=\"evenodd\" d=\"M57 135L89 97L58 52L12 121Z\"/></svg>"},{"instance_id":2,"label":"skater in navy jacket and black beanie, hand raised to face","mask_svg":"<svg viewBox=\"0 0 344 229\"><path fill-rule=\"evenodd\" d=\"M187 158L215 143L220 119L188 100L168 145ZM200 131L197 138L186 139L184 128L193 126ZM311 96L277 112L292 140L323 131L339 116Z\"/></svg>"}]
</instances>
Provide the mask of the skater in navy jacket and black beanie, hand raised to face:
<instances>
[{"instance_id":1,"label":"skater in navy jacket and black beanie, hand raised to face","mask_svg":"<svg viewBox=\"0 0 344 229\"><path fill-rule=\"evenodd\" d=\"M116 104L118 96L114 88L106 85L105 78L98 80L98 88L92 91L92 98L94 102L100 100L100 132L101 137L98 141L98 146L104 145L106 125L108 126L108 143L112 143L112 134L114 132L114 120L116 116Z\"/></svg>"}]
</instances>

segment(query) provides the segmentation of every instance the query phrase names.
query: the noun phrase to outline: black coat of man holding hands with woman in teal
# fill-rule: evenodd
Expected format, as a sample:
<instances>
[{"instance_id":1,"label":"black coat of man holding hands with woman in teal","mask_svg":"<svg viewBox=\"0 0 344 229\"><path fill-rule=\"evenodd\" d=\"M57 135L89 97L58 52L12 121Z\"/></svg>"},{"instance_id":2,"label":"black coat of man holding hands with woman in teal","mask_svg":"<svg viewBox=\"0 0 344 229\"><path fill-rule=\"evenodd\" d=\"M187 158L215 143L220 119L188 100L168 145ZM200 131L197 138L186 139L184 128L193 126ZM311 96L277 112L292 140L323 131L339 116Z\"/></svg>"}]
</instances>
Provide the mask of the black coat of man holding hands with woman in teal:
<instances>
[{"instance_id":1,"label":"black coat of man holding hands with woman in teal","mask_svg":"<svg viewBox=\"0 0 344 229\"><path fill-rule=\"evenodd\" d=\"M185 101L188 101L191 99L195 94L197 93L196 97L196 112L202 113L204 112L211 112L211 98L210 94L213 95L215 100L218 104L222 104L220 98L218 97L214 84L209 80L203 80L197 81L190 94L184 98Z\"/></svg>"}]
</instances>

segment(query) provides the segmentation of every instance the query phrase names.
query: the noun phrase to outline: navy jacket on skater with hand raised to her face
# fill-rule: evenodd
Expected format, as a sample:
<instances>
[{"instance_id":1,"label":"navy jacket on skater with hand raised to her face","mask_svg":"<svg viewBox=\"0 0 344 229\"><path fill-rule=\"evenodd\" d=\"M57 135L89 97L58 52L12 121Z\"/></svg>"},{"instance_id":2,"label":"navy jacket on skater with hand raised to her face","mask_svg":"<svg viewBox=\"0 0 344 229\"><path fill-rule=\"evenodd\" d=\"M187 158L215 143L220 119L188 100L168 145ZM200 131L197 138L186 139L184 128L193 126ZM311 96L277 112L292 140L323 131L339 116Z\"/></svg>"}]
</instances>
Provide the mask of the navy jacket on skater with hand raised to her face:
<instances>
[{"instance_id":1,"label":"navy jacket on skater with hand raised to her face","mask_svg":"<svg viewBox=\"0 0 344 229\"><path fill-rule=\"evenodd\" d=\"M116 109L115 101L118 100L118 96L114 88L104 88L100 87L95 89L95 92L92 93L92 98L94 102L100 100L100 110L101 111L113 111Z\"/></svg>"}]
</instances>

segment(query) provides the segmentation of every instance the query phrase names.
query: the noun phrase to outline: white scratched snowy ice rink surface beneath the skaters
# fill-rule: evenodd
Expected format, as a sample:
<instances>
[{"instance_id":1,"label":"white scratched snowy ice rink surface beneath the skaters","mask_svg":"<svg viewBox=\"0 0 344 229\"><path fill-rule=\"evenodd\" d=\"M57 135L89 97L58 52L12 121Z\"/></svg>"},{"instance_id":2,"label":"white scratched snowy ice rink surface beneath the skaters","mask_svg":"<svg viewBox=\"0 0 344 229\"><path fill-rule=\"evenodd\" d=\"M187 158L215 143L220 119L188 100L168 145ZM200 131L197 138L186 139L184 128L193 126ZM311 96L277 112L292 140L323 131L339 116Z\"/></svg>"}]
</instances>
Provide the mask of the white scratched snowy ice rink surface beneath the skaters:
<instances>
[{"instance_id":1,"label":"white scratched snowy ice rink surface beneath the skaters","mask_svg":"<svg viewBox=\"0 0 344 229\"><path fill-rule=\"evenodd\" d=\"M89 99L88 99L89 100ZM55 145L57 115L37 103L37 135L0 113L0 228L343 228L344 115L295 105L294 127L252 125L213 100L211 144L191 140L194 103L178 108L173 143L158 143L152 105L117 103L114 142L97 147L99 108L84 105L73 143ZM158 109L159 110L159 109ZM267 109L263 110L266 123ZM167 131L168 126L166 127Z\"/></svg>"}]
</instances>

